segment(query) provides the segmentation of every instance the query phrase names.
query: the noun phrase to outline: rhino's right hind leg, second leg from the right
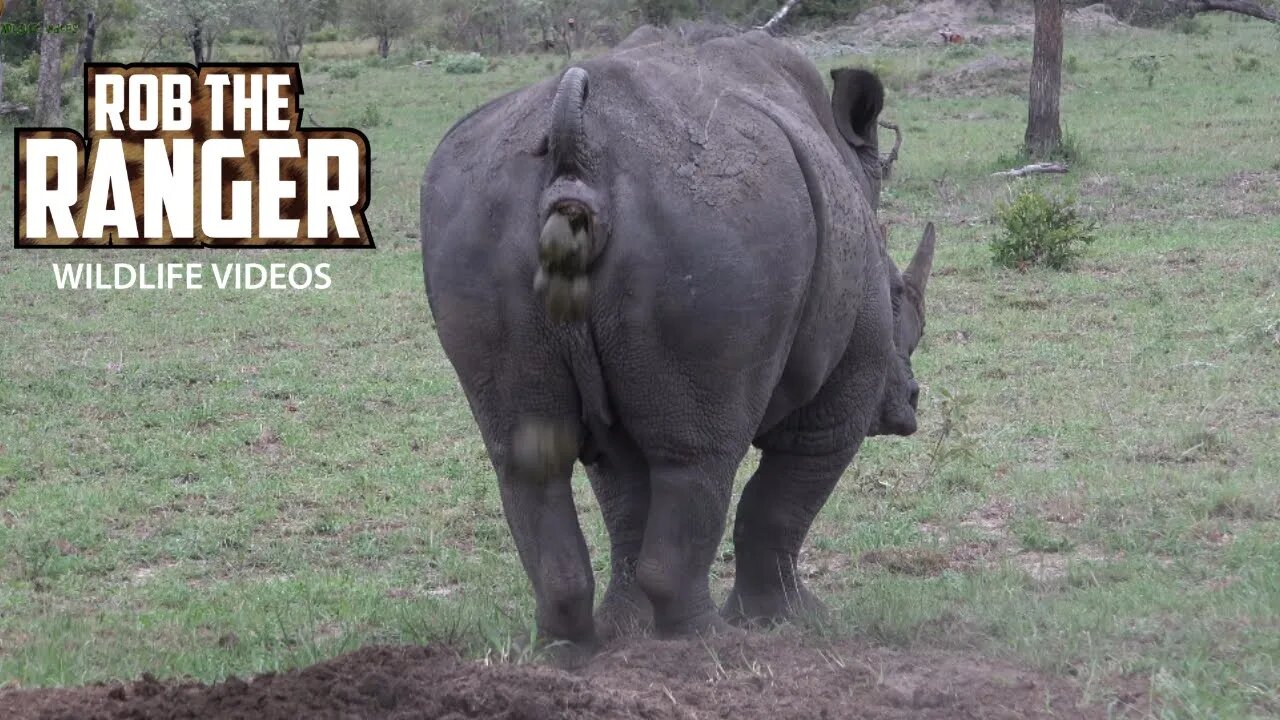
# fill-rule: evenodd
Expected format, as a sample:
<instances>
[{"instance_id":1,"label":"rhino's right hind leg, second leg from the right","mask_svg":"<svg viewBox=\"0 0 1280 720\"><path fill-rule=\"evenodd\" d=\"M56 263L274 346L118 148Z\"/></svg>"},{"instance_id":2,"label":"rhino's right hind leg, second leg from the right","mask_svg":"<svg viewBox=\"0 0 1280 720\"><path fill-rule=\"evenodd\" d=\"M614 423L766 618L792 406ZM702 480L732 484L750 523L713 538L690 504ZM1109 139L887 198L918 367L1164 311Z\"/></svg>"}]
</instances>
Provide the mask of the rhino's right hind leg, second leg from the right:
<instances>
[{"instance_id":1,"label":"rhino's right hind leg, second leg from the right","mask_svg":"<svg viewBox=\"0 0 1280 720\"><path fill-rule=\"evenodd\" d=\"M708 575L724 534L735 468L733 459L652 465L636 582L653 603L659 634L726 628L712 602Z\"/></svg>"}]
</instances>

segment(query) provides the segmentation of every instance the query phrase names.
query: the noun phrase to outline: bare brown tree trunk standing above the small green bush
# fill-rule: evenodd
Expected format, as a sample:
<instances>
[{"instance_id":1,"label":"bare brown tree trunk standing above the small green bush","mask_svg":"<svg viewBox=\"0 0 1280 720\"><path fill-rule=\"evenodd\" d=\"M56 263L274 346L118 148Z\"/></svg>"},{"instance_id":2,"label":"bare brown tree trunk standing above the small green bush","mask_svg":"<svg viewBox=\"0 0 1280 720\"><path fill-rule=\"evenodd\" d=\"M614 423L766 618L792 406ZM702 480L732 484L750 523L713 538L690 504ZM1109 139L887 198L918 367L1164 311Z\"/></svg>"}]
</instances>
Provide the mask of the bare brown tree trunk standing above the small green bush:
<instances>
[{"instance_id":1,"label":"bare brown tree trunk standing above the small green bush","mask_svg":"<svg viewBox=\"0 0 1280 720\"><path fill-rule=\"evenodd\" d=\"M1036 0L1036 44L1032 51L1027 151L1046 158L1062 142L1059 96L1062 91L1062 0Z\"/></svg>"}]
</instances>

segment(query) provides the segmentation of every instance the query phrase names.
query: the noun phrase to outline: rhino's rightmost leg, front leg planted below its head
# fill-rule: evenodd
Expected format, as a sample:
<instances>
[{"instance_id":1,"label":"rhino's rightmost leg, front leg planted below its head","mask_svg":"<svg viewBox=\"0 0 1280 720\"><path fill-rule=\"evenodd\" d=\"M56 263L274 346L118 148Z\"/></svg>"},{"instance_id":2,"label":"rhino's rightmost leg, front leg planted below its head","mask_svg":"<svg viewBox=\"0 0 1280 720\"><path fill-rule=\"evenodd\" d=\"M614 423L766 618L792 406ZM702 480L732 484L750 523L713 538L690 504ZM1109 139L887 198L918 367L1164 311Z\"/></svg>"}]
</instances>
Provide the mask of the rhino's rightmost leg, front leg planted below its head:
<instances>
[{"instance_id":1,"label":"rhino's rightmost leg, front leg planted below its head","mask_svg":"<svg viewBox=\"0 0 1280 720\"><path fill-rule=\"evenodd\" d=\"M733 523L736 575L722 611L727 620L772 624L824 612L800 580L796 559L814 516L856 451L855 443L818 456L762 455Z\"/></svg>"}]
</instances>

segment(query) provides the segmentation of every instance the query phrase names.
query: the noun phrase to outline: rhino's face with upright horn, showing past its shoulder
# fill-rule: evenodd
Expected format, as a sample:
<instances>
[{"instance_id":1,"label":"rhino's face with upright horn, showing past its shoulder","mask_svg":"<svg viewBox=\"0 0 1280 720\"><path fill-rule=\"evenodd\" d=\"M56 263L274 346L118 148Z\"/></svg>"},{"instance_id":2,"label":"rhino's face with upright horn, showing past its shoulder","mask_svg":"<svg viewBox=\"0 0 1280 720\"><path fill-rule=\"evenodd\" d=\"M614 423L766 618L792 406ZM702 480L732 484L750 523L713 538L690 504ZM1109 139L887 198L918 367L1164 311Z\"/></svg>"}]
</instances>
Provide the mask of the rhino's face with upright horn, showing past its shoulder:
<instances>
[{"instance_id":1,"label":"rhino's face with upright horn, showing past its shoulder","mask_svg":"<svg viewBox=\"0 0 1280 720\"><path fill-rule=\"evenodd\" d=\"M881 234L883 237L883 229ZM911 354L924 336L924 286L928 284L933 268L933 223L929 223L911 263L902 273L888 259L888 252L884 254L890 299L893 304L893 351L881 395L879 418L872 423L868 436L909 436L915 432L920 386L911 372Z\"/></svg>"}]
</instances>

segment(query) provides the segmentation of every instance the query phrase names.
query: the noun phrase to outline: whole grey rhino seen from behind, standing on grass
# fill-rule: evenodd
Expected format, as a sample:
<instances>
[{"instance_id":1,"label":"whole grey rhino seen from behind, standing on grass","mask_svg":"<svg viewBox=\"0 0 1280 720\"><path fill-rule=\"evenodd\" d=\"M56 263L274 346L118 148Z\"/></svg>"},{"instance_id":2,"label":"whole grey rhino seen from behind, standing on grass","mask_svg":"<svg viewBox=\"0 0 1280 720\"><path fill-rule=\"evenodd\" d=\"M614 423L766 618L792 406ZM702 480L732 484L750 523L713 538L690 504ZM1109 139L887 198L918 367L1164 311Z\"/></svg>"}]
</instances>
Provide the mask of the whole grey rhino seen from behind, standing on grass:
<instances>
[{"instance_id":1,"label":"whole grey rhino seen from behind, standing on grass","mask_svg":"<svg viewBox=\"0 0 1280 720\"><path fill-rule=\"evenodd\" d=\"M645 28L577 68L463 118L422 184L428 299L539 632L590 651L817 611L795 565L814 515L867 436L915 430L933 231L900 275L874 211L879 81L837 70L828 100L762 32ZM576 460L612 543L594 619Z\"/></svg>"}]
</instances>

